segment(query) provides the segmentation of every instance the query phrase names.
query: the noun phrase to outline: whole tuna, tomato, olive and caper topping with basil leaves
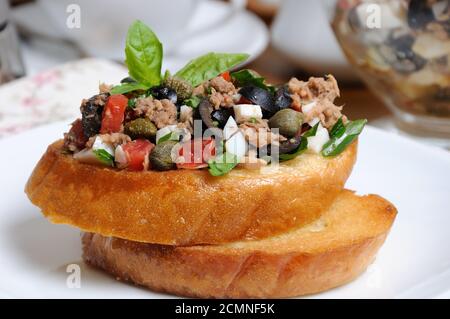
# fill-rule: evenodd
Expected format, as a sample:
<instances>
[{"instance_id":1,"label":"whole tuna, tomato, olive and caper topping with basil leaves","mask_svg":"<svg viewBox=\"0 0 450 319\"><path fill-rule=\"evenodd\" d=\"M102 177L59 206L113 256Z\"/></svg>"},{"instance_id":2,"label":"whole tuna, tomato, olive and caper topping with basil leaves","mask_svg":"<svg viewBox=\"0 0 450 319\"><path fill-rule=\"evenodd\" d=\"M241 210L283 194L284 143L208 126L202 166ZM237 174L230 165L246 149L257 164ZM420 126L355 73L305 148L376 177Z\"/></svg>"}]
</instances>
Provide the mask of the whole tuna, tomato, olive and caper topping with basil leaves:
<instances>
[{"instance_id":1,"label":"whole tuna, tomato, olive and caper topping with basil leaves","mask_svg":"<svg viewBox=\"0 0 450 319\"><path fill-rule=\"evenodd\" d=\"M274 86L253 70L230 70L247 54L208 53L170 74L163 47L140 21L128 31L129 77L83 100L64 134L76 160L130 171L235 167L259 169L303 152L336 156L366 120L349 121L334 104L332 75Z\"/></svg>"}]
</instances>

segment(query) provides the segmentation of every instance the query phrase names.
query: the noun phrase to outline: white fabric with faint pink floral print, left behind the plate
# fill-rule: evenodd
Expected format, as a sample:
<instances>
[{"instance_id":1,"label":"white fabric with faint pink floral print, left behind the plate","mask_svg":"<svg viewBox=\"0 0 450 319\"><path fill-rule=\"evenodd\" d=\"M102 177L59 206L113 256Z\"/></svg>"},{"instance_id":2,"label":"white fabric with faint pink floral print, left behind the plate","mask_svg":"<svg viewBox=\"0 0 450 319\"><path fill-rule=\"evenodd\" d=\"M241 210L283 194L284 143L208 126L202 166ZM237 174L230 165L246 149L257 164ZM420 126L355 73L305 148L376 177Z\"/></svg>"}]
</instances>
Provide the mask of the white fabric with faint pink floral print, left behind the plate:
<instances>
[{"instance_id":1,"label":"white fabric with faint pink floral print, left behind the plate","mask_svg":"<svg viewBox=\"0 0 450 319\"><path fill-rule=\"evenodd\" d=\"M119 83L124 66L101 59L70 62L0 86L0 138L80 115L81 100Z\"/></svg>"}]
</instances>

